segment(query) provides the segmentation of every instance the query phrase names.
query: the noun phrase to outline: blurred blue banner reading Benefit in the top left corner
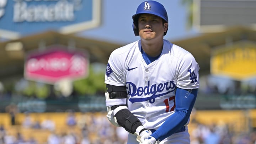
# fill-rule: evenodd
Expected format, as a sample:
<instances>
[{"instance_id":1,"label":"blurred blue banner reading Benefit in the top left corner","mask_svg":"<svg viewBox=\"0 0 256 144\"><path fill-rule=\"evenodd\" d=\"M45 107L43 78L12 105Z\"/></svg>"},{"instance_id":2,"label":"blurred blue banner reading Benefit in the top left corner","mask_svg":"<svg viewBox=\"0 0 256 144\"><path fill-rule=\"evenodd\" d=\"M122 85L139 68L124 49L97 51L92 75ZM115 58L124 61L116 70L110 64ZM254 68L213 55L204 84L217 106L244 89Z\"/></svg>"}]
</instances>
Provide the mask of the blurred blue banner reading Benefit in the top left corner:
<instances>
[{"instance_id":1,"label":"blurred blue banner reading Benefit in the top left corner","mask_svg":"<svg viewBox=\"0 0 256 144\"><path fill-rule=\"evenodd\" d=\"M100 25L100 10L100 0L0 0L0 37L83 31Z\"/></svg>"}]
</instances>

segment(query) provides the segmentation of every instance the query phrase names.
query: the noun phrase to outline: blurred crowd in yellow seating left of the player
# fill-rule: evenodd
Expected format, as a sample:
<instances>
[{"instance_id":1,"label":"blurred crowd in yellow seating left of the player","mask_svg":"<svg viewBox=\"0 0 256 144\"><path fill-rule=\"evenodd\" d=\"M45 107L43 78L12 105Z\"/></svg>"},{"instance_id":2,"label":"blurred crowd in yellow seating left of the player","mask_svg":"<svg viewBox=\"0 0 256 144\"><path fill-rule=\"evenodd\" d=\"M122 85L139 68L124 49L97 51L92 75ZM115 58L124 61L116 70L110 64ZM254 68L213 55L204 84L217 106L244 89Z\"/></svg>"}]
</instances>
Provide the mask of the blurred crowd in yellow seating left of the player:
<instances>
[{"instance_id":1,"label":"blurred crowd in yellow seating left of the player","mask_svg":"<svg viewBox=\"0 0 256 144\"><path fill-rule=\"evenodd\" d=\"M26 112L9 123L1 124L0 144L124 144L127 139L127 132L112 126L104 112Z\"/></svg>"}]
</instances>

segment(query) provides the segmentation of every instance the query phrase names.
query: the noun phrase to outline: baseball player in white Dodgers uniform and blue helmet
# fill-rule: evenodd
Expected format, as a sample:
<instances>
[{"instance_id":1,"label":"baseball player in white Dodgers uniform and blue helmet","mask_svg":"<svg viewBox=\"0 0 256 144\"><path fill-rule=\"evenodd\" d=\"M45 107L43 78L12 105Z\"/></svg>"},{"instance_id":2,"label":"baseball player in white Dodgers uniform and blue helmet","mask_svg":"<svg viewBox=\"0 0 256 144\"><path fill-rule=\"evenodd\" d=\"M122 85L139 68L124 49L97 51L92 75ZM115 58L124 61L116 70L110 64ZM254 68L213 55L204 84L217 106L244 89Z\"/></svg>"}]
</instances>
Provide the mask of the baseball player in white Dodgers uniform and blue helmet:
<instances>
[{"instance_id":1,"label":"baseball player in white Dodgers uniform and blue helmet","mask_svg":"<svg viewBox=\"0 0 256 144\"><path fill-rule=\"evenodd\" d=\"M190 52L164 39L168 17L162 4L144 1L132 18L140 40L110 55L107 117L129 132L128 144L189 144L199 66Z\"/></svg>"}]
</instances>

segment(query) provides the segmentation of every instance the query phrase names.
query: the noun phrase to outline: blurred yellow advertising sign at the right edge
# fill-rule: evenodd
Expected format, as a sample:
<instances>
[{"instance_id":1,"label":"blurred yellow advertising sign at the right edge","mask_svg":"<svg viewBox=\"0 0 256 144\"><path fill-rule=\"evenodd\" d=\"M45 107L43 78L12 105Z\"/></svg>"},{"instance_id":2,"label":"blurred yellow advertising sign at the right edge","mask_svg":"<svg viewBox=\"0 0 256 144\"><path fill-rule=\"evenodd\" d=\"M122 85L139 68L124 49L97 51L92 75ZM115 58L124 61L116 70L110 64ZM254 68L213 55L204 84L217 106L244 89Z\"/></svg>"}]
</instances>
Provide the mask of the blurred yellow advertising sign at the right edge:
<instances>
[{"instance_id":1,"label":"blurred yellow advertising sign at the right edge","mask_svg":"<svg viewBox=\"0 0 256 144\"><path fill-rule=\"evenodd\" d=\"M210 72L236 80L256 76L256 44L243 41L212 51Z\"/></svg>"}]
</instances>

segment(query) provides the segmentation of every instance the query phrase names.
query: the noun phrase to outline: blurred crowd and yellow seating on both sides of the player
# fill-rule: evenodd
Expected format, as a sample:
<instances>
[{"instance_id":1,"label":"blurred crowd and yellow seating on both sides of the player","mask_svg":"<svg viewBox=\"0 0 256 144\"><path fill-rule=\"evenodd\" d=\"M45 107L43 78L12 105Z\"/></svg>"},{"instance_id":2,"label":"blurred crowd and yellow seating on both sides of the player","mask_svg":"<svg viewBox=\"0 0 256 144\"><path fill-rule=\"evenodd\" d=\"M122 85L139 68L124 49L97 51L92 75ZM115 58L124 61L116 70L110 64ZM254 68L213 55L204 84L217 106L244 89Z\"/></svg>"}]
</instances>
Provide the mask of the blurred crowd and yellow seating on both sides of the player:
<instances>
[{"instance_id":1,"label":"blurred crowd and yellow seating on both sides of the player","mask_svg":"<svg viewBox=\"0 0 256 144\"><path fill-rule=\"evenodd\" d=\"M114 127L106 112L18 113L15 123L0 114L0 144L126 144L127 132ZM228 123L191 119L191 144L256 144L256 131L238 133Z\"/></svg>"}]
</instances>

